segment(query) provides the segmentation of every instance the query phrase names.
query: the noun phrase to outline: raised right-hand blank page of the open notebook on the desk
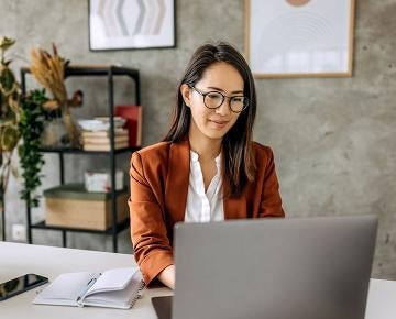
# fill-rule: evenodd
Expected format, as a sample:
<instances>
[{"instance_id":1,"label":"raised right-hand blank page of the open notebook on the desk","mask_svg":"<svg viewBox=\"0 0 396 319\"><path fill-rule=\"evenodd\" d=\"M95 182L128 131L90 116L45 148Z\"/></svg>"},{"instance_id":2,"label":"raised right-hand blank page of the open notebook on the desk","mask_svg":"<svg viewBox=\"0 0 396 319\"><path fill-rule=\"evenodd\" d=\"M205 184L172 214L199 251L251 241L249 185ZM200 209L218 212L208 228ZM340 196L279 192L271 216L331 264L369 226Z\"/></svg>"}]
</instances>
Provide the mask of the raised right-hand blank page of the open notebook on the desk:
<instances>
[{"instance_id":1,"label":"raised right-hand blank page of the open notebook on the desk","mask_svg":"<svg viewBox=\"0 0 396 319\"><path fill-rule=\"evenodd\" d=\"M111 290L123 289L131 282L133 274L136 272L139 272L138 267L114 268L114 270L106 271L89 288L86 296L99 292L111 292Z\"/></svg>"}]
</instances>

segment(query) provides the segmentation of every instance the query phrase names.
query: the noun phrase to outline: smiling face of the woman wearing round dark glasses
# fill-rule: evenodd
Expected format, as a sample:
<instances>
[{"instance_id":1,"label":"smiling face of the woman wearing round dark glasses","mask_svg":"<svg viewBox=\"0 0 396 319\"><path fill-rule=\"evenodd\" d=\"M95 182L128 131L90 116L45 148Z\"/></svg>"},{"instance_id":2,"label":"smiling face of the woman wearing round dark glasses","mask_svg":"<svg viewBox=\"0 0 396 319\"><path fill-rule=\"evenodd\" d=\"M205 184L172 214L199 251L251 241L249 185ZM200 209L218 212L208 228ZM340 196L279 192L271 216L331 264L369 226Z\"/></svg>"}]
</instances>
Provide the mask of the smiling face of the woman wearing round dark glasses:
<instances>
[{"instance_id":1,"label":"smiling face of the woman wearing round dark glasses","mask_svg":"<svg viewBox=\"0 0 396 319\"><path fill-rule=\"evenodd\" d=\"M231 111L229 98L243 96L243 87L240 73L232 65L223 62L210 65L194 88L183 85L182 96L191 110L189 134L194 134L195 138L221 140L240 116ZM229 97L226 97L217 109L209 109L204 103L202 94L212 91ZM207 105L211 97L213 96L209 95L206 98Z\"/></svg>"}]
</instances>

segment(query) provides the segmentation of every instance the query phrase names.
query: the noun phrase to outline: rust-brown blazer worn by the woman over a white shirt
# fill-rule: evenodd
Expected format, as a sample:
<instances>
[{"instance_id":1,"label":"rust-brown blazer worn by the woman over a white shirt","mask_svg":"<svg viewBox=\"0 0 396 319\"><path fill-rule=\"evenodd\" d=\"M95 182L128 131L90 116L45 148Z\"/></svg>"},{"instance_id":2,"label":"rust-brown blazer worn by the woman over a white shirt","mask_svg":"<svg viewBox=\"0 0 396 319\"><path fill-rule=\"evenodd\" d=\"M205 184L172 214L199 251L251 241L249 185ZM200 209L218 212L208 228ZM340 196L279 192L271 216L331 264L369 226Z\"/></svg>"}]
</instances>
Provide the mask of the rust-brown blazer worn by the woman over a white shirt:
<instances>
[{"instance_id":1,"label":"rust-brown blazer worn by the woman over a white shirt","mask_svg":"<svg viewBox=\"0 0 396 319\"><path fill-rule=\"evenodd\" d=\"M224 218L284 217L274 155L254 143L256 176L240 198L224 198ZM140 150L131 160L131 237L135 260L148 285L174 264L173 227L184 221L189 185L188 139L161 142Z\"/></svg>"}]
</instances>

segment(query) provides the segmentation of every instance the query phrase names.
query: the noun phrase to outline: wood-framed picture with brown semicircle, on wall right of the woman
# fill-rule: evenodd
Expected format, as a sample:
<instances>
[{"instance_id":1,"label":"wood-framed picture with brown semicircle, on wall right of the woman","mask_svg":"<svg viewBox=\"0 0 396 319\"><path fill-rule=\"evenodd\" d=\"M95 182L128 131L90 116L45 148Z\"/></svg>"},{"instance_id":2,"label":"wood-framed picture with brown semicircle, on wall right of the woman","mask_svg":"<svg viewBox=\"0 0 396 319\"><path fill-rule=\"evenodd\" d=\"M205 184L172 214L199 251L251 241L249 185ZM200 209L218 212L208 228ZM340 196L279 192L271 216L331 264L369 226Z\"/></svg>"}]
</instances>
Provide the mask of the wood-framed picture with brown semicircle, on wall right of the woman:
<instances>
[{"instance_id":1,"label":"wood-framed picture with brown semicircle, on wall right of the woman","mask_svg":"<svg viewBox=\"0 0 396 319\"><path fill-rule=\"evenodd\" d=\"M257 78L352 76L355 0L245 0Z\"/></svg>"}]
</instances>

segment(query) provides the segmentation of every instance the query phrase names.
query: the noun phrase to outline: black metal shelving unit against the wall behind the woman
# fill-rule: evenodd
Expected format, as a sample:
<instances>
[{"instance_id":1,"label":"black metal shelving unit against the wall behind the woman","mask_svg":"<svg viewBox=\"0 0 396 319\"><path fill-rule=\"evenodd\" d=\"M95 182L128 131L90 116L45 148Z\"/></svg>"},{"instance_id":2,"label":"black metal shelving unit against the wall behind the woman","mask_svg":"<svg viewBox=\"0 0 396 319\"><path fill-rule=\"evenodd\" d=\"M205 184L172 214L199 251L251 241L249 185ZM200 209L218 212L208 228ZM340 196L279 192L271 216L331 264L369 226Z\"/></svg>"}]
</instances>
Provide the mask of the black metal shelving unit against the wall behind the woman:
<instances>
[{"instance_id":1,"label":"black metal shelving unit against the wall behind the woman","mask_svg":"<svg viewBox=\"0 0 396 319\"><path fill-rule=\"evenodd\" d=\"M26 92L26 75L30 74L29 68L21 68L21 88L22 92ZM127 76L134 81L135 85L135 103L140 106L140 76L139 70L121 67L121 66L67 66L65 69L65 78L72 76L100 76L106 77L108 81L108 95L109 95L109 117L114 117L114 82L116 76ZM65 184L65 166L64 155L65 154L85 154L85 155L103 155L109 156L110 160L110 173L111 173L111 185L116 185L116 160L118 154L125 152L134 152L139 147L124 147L114 150L114 122L110 121L110 151L84 151L77 148L64 148L64 147L43 147L41 151L45 153L57 153L59 155L59 169L61 169L61 184ZM92 230L92 229L80 229L80 228L68 228L68 227L53 227L45 224L45 221L32 223L32 208L26 202L26 221L28 221L28 242L32 243L32 229L41 230L58 230L62 232L63 246L67 246L67 232L88 232L88 233L100 233L112 237L113 252L118 251L118 233L128 229L130 226L129 219L121 223L117 223L117 191L113 187L111 189L111 217L112 226L106 230Z\"/></svg>"}]
</instances>

